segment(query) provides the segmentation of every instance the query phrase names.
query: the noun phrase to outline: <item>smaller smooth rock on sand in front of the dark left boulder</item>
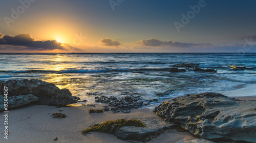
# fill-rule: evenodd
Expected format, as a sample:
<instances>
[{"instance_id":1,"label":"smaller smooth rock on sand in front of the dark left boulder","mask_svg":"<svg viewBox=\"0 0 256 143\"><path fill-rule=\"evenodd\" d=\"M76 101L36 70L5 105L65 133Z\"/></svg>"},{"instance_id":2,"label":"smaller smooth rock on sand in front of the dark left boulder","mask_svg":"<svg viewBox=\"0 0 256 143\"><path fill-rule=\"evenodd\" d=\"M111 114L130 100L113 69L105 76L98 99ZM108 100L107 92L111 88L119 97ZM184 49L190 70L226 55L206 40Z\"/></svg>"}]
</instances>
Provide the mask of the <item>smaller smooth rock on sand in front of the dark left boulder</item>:
<instances>
[{"instance_id":1,"label":"smaller smooth rock on sand in front of the dark left boulder","mask_svg":"<svg viewBox=\"0 0 256 143\"><path fill-rule=\"evenodd\" d=\"M4 110L4 97L0 97L0 111ZM28 94L8 97L8 109L17 108L38 101L38 97Z\"/></svg>"}]
</instances>

